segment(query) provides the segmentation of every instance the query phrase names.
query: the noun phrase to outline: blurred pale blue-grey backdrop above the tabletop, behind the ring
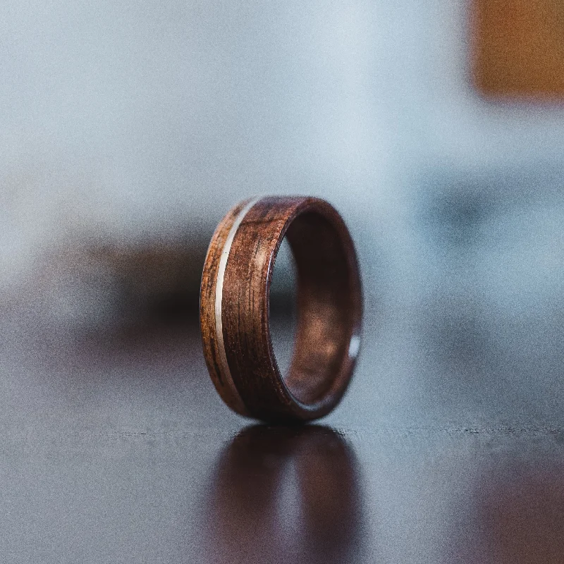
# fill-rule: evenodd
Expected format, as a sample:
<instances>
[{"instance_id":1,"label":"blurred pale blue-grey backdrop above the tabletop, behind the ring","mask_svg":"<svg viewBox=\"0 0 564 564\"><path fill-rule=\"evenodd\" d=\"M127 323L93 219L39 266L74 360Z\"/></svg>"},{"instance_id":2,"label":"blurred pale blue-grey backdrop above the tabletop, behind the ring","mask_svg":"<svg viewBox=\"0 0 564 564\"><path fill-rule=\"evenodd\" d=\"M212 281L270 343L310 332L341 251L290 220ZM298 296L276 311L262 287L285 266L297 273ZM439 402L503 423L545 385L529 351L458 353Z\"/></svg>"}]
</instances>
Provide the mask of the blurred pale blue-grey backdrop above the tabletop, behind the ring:
<instances>
[{"instance_id":1,"label":"blurred pale blue-grey backdrop above the tabletop, behind the ring","mask_svg":"<svg viewBox=\"0 0 564 564\"><path fill-rule=\"evenodd\" d=\"M124 294L173 292L179 264L197 288L232 204L299 193L350 223L369 312L445 296L499 319L554 312L564 109L472 90L467 10L5 3L2 306L106 324Z\"/></svg>"}]
</instances>

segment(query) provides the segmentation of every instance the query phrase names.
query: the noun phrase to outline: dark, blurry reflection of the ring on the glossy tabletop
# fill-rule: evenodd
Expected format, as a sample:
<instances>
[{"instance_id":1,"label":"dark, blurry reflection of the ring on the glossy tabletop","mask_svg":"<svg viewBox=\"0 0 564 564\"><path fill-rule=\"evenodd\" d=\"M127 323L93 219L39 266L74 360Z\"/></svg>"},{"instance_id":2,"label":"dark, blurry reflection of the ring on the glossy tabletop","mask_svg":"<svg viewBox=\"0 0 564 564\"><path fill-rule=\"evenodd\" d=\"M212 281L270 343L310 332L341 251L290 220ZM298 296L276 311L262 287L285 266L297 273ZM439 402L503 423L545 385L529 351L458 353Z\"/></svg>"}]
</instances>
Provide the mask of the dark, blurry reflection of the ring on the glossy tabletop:
<instances>
[{"instance_id":1,"label":"dark, blurry reflection of the ring on the glossy tabletop","mask_svg":"<svg viewBox=\"0 0 564 564\"><path fill-rule=\"evenodd\" d=\"M206 501L212 562L352 562L363 529L357 460L329 427L243 429Z\"/></svg>"}]
</instances>

